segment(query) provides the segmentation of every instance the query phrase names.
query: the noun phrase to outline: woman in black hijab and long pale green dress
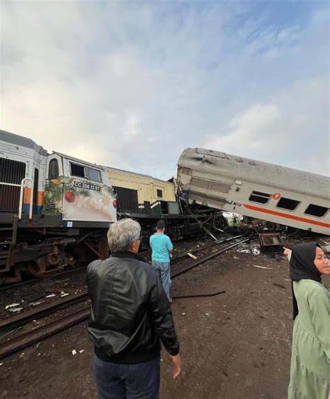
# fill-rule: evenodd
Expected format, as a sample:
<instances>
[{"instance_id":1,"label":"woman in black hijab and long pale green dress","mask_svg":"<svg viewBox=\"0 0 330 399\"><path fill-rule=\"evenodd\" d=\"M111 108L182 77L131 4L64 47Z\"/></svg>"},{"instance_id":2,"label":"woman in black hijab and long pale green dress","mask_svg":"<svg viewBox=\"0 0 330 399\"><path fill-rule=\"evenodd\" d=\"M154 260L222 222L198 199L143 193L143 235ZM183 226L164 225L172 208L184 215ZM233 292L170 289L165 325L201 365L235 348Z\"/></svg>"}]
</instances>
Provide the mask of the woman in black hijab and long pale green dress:
<instances>
[{"instance_id":1,"label":"woman in black hijab and long pale green dress","mask_svg":"<svg viewBox=\"0 0 330 399\"><path fill-rule=\"evenodd\" d=\"M315 243L295 245L288 258L294 320L288 397L328 399L330 292L321 275L330 274L330 264Z\"/></svg>"}]
</instances>

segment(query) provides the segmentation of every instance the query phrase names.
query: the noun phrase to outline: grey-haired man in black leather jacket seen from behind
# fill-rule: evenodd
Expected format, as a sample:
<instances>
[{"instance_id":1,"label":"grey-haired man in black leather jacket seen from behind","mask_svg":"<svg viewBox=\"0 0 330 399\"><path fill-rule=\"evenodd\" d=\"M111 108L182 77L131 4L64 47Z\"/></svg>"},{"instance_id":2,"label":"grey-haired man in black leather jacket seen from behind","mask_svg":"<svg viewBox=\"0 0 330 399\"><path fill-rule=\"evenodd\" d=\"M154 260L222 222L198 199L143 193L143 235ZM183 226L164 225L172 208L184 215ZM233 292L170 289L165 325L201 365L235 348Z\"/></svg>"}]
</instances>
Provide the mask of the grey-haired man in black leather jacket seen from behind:
<instances>
[{"instance_id":1,"label":"grey-haired man in black leather jacket seen from behind","mask_svg":"<svg viewBox=\"0 0 330 399\"><path fill-rule=\"evenodd\" d=\"M111 257L87 269L88 332L99 398L159 398L161 342L181 370L171 306L154 269L137 253L141 226L124 219L109 228Z\"/></svg>"}]
</instances>

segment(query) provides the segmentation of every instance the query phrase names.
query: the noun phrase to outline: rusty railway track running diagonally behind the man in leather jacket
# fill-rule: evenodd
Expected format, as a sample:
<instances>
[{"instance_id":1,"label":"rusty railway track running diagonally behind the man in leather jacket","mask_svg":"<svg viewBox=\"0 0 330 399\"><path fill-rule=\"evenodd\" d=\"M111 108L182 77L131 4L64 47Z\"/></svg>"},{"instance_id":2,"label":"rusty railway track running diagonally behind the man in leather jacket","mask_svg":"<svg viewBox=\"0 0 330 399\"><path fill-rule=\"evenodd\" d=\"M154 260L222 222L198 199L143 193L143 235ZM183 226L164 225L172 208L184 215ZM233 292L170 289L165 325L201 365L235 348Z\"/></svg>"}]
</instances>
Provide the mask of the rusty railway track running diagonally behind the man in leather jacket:
<instances>
[{"instance_id":1,"label":"rusty railway track running diagonally behind the man in leather jacket","mask_svg":"<svg viewBox=\"0 0 330 399\"><path fill-rule=\"evenodd\" d=\"M250 237L230 237L226 240L219 240L217 242L213 242L207 244L203 247L200 247L192 252L194 252L197 256L200 256L196 260L191 260L191 258L187 258L187 254L182 256L178 256L173 259L173 263L175 263L175 267L171 269L171 278L174 279L180 274L187 272L189 269L201 265L202 263L214 258L215 256L219 256L221 253L228 251L228 249L232 249L233 247L237 247L240 244L244 244L244 242L248 242ZM213 249L213 251L205 251L207 249ZM190 252L191 253L191 252ZM195 256L196 256L195 255ZM54 313L54 311L59 308L68 307L74 303L81 302L86 300L87 298L87 290L82 290L77 295L73 295L70 298L61 299L50 304L45 304L44 306L40 306L36 310L24 312L21 315L14 316L8 320L3 320L0 322L0 329L10 329L17 325L25 324L29 322L29 320L41 318L45 315L49 315L50 313ZM14 336L13 338L9 338L6 341L0 343L0 359L8 356L22 348L32 345L47 336L51 336L56 334L58 331L62 331L68 327L71 327L78 322L86 320L88 318L90 312L90 305L82 307L79 311L74 311L65 315L57 320L53 320L52 322L47 322L47 324L43 324L40 327L36 327L29 331L26 331L22 334Z\"/></svg>"}]
</instances>

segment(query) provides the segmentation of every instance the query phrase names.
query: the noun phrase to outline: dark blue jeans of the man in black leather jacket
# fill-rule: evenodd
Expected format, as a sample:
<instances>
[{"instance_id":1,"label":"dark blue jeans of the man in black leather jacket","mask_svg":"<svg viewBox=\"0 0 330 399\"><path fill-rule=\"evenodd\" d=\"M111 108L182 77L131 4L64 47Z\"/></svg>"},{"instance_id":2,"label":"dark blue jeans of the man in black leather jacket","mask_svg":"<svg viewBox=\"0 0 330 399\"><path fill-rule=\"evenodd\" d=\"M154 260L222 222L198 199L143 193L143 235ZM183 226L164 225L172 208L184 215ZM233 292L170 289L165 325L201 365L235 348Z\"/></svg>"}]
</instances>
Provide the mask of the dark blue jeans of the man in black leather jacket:
<instances>
[{"instance_id":1,"label":"dark blue jeans of the man in black leather jacket","mask_svg":"<svg viewBox=\"0 0 330 399\"><path fill-rule=\"evenodd\" d=\"M117 364L94 355L99 399L159 399L159 357L146 363Z\"/></svg>"}]
</instances>

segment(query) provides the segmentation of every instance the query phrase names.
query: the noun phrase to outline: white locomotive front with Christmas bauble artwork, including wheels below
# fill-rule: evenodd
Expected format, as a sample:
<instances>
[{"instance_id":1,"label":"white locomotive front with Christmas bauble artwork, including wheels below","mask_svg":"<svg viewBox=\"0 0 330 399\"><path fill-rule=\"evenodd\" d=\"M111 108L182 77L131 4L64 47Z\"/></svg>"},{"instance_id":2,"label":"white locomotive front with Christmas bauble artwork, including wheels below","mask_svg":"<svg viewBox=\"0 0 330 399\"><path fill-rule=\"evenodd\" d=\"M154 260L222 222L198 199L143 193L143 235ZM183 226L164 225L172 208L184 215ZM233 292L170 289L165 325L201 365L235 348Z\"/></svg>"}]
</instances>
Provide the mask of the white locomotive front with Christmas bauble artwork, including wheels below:
<instances>
[{"instance_id":1,"label":"white locomotive front with Christmas bauble artwork, including wheels below","mask_svg":"<svg viewBox=\"0 0 330 399\"><path fill-rule=\"evenodd\" d=\"M0 131L0 283L108 253L116 194L107 172Z\"/></svg>"}]
</instances>

